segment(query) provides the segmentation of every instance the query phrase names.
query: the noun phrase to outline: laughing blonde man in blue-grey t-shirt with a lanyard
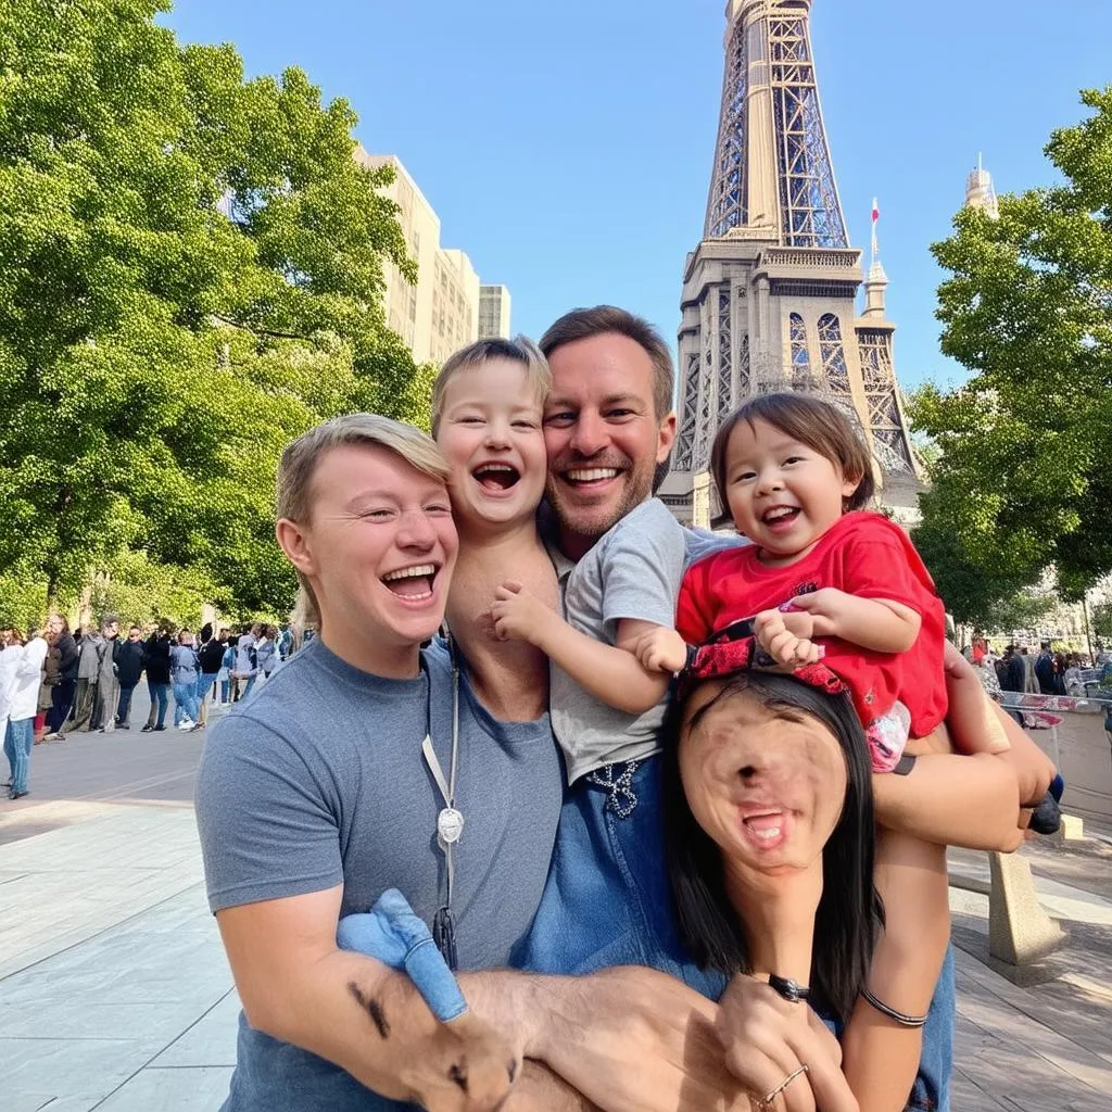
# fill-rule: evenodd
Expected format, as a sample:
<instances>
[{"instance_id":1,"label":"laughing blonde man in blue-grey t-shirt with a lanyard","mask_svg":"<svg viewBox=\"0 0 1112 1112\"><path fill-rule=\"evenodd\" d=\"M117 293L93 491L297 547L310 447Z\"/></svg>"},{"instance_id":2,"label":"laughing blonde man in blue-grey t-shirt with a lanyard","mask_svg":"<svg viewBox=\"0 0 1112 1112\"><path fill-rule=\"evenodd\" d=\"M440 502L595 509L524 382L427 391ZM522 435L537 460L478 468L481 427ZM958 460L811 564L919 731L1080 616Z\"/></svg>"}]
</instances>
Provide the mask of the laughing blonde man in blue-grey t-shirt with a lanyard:
<instances>
[{"instance_id":1,"label":"laughing blonde man in blue-grey t-shirt with a lanyard","mask_svg":"<svg viewBox=\"0 0 1112 1112\"><path fill-rule=\"evenodd\" d=\"M507 1108L539 1112L566 1089L522 1069L529 1032L498 979L515 999L523 979L464 975L484 1006L440 1024L406 977L337 947L340 916L396 886L426 923L450 903L461 969L502 965L552 852L547 716L494 722L461 668L457 718L447 651L420 649L458 547L446 478L428 437L363 414L282 455L276 532L319 636L214 729L197 784L209 901L244 1004L227 1112L467 1112L512 1088ZM465 820L450 901L446 806Z\"/></svg>"}]
</instances>

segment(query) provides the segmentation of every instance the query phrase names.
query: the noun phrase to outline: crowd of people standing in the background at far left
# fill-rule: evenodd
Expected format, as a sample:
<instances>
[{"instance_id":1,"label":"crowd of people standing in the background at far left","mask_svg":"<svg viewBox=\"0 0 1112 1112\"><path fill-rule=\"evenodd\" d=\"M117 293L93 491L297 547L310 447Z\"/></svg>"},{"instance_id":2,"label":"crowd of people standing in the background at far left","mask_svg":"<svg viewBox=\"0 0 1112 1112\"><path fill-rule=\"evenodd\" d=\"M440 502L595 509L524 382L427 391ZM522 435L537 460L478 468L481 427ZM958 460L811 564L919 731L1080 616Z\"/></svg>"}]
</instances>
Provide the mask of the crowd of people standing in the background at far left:
<instances>
[{"instance_id":1,"label":"crowd of people standing in the background at far left","mask_svg":"<svg viewBox=\"0 0 1112 1112\"><path fill-rule=\"evenodd\" d=\"M71 631L61 614L26 636L0 625L0 735L10 776L8 797L29 792L30 756L40 742L64 742L75 731L131 728L131 702L146 676L150 712L142 733L173 726L203 729L208 703L247 698L295 647L289 626L255 622L238 628L207 623L195 635L162 620L131 625L116 614ZM211 699L210 699L211 694Z\"/></svg>"}]
</instances>

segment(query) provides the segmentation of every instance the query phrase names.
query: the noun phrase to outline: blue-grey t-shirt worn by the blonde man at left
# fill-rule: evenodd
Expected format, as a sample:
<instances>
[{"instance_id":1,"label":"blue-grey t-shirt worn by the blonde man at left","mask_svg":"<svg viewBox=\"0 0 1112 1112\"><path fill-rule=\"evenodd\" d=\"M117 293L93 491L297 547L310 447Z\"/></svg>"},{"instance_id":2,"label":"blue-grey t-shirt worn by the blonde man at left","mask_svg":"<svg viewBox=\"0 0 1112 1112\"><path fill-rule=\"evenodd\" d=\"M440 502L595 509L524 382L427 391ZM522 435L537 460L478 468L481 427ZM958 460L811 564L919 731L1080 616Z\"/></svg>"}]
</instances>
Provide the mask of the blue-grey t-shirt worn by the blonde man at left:
<instances>
[{"instance_id":1,"label":"blue-grey t-shirt worn by the blonde man at left","mask_svg":"<svg viewBox=\"0 0 1112 1112\"><path fill-rule=\"evenodd\" d=\"M421 757L430 722L451 763L451 665L435 644L416 679L383 679L310 642L212 731L197 780L209 905L344 885L341 915L397 887L426 923L444 902L436 816ZM465 970L505 965L540 901L559 820L548 716L498 723L460 677L453 913ZM400 1105L240 1016L228 1112L380 1112Z\"/></svg>"}]
</instances>

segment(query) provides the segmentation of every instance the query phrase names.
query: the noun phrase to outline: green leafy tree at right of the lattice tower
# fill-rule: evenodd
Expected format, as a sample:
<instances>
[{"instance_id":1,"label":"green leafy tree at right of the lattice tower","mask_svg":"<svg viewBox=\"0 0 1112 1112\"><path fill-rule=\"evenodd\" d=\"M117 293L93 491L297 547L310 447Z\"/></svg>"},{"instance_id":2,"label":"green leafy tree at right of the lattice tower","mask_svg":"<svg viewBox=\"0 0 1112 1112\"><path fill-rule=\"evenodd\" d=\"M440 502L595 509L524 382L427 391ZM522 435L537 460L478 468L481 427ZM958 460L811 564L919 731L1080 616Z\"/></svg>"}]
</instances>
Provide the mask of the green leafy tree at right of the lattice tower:
<instances>
[{"instance_id":1,"label":"green leafy tree at right of the lattice tower","mask_svg":"<svg viewBox=\"0 0 1112 1112\"><path fill-rule=\"evenodd\" d=\"M1063 183L965 210L933 248L942 348L973 373L914 406L940 449L915 538L947 602L959 573L1003 598L1053 567L1076 598L1112 569L1112 88L1082 99L1046 147Z\"/></svg>"}]
</instances>

